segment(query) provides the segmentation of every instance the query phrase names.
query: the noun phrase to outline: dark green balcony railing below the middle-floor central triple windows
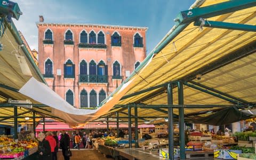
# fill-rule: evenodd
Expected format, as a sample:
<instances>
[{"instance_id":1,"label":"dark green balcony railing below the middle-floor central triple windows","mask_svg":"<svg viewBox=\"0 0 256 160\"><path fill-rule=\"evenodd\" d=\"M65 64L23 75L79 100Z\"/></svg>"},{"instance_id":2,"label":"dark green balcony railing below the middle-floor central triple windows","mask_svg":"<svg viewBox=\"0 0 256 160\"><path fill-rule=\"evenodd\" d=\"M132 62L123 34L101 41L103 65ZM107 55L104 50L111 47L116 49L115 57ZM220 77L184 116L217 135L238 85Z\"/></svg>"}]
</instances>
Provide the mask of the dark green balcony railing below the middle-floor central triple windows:
<instances>
[{"instance_id":1,"label":"dark green balcony railing below the middle-floor central triple windows","mask_svg":"<svg viewBox=\"0 0 256 160\"><path fill-rule=\"evenodd\" d=\"M108 83L108 76L107 75L79 75L79 82Z\"/></svg>"}]
</instances>

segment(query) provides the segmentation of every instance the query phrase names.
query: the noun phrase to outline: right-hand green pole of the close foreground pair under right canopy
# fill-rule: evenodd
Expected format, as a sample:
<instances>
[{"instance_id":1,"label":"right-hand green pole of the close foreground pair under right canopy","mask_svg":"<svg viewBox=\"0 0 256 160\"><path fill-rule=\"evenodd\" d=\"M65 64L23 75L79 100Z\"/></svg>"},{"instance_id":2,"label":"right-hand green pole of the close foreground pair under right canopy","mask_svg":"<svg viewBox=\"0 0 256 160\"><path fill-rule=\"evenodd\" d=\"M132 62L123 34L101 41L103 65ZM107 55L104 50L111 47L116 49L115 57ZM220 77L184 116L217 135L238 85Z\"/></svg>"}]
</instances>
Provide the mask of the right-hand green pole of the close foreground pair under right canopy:
<instances>
[{"instance_id":1,"label":"right-hand green pole of the close foreground pair under right canopy","mask_svg":"<svg viewBox=\"0 0 256 160\"><path fill-rule=\"evenodd\" d=\"M183 82L178 82L178 102L184 105ZM179 130L180 130L180 159L185 159L185 130L184 130L184 108L179 108Z\"/></svg>"}]
</instances>

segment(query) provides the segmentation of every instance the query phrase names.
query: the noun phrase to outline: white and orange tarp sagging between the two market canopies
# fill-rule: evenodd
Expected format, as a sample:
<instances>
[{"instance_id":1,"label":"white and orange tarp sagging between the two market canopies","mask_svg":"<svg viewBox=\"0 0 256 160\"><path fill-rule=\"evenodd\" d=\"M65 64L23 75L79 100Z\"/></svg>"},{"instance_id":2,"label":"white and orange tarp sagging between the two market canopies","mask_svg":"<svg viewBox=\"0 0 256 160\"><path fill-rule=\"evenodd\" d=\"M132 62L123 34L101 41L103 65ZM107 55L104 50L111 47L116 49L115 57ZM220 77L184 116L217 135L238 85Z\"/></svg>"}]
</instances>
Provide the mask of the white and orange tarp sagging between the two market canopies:
<instances>
[{"instance_id":1,"label":"white and orange tarp sagging between the two market canopies","mask_svg":"<svg viewBox=\"0 0 256 160\"><path fill-rule=\"evenodd\" d=\"M115 94L115 98L109 98L108 101L98 109L77 109L50 89L49 86L38 82L34 77L31 77L29 81L21 87L19 92L43 103L44 105L52 107L52 114L54 116L60 117L68 123L77 124L92 121L93 119L106 114L114 105L116 105L119 99L129 91L130 87L128 86L132 81L133 79L125 83Z\"/></svg>"}]
</instances>

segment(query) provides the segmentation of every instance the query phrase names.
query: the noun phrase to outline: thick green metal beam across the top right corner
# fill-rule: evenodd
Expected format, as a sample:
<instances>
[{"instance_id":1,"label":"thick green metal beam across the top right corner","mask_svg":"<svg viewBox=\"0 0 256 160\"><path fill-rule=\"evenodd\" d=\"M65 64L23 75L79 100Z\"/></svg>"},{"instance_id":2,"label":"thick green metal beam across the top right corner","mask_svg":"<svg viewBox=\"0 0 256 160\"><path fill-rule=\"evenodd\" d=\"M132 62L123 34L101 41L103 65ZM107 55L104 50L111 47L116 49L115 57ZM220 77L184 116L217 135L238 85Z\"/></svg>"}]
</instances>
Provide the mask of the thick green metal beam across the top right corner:
<instances>
[{"instance_id":1,"label":"thick green metal beam across the top right corner","mask_svg":"<svg viewBox=\"0 0 256 160\"><path fill-rule=\"evenodd\" d=\"M233 0L223 3L217 3L205 7L197 7L195 9L182 11L178 17L174 19L175 25L182 25L196 21L199 18L210 18L230 12L235 12L249 7L256 6L255 0Z\"/></svg>"}]
</instances>

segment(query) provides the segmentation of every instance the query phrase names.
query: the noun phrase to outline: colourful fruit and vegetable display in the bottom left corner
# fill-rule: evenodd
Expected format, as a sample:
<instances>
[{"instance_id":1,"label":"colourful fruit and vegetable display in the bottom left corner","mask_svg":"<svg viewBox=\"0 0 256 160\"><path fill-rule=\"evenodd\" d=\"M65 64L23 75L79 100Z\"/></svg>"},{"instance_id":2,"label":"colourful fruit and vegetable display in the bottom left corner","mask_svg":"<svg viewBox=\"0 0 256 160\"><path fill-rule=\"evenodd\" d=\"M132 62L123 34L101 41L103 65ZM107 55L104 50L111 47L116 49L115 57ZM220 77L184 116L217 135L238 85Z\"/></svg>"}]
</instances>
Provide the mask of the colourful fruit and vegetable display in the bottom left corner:
<instances>
[{"instance_id":1,"label":"colourful fruit and vegetable display in the bottom left corner","mask_svg":"<svg viewBox=\"0 0 256 160\"><path fill-rule=\"evenodd\" d=\"M33 140L14 142L12 138L0 137L0 158L27 157L37 150Z\"/></svg>"}]
</instances>

